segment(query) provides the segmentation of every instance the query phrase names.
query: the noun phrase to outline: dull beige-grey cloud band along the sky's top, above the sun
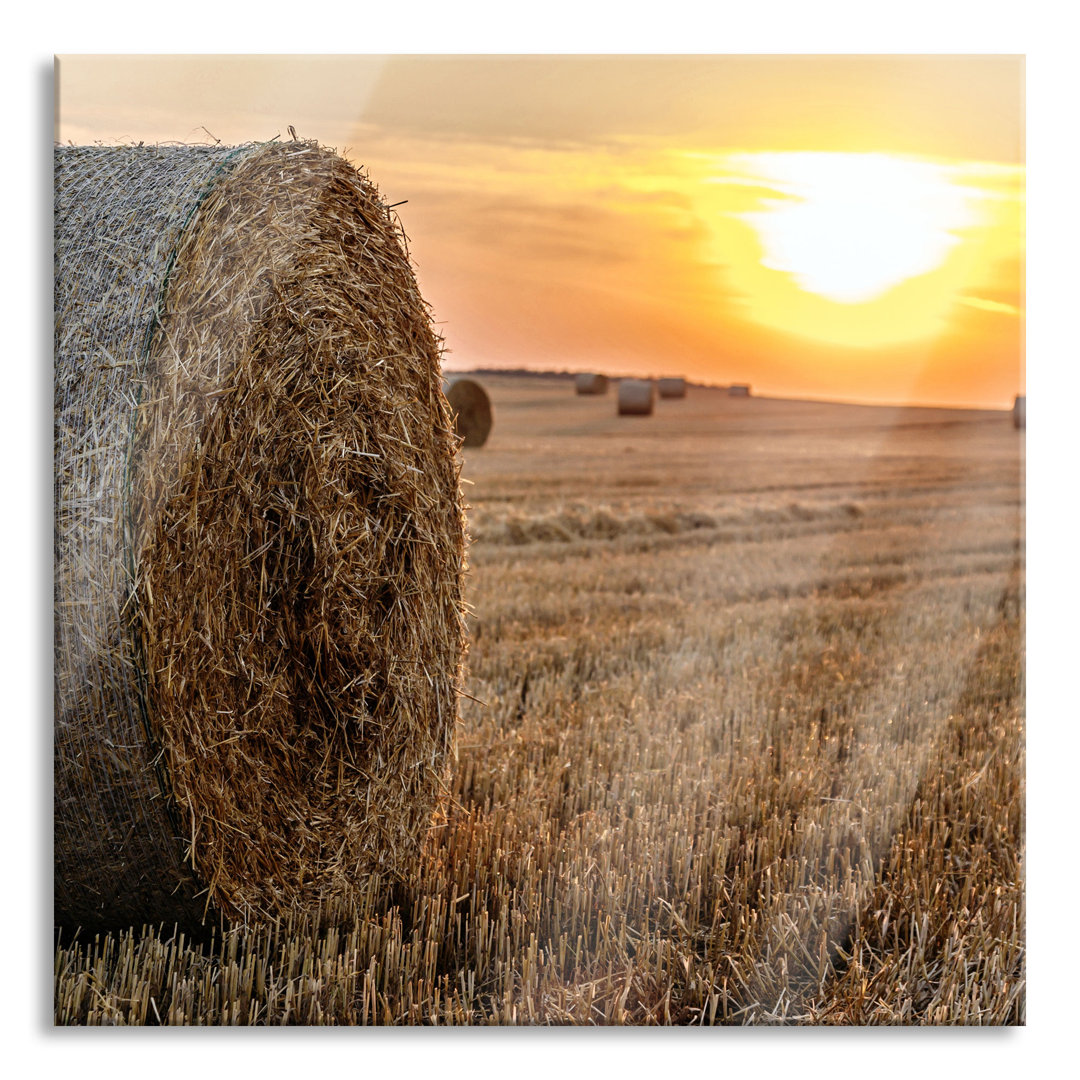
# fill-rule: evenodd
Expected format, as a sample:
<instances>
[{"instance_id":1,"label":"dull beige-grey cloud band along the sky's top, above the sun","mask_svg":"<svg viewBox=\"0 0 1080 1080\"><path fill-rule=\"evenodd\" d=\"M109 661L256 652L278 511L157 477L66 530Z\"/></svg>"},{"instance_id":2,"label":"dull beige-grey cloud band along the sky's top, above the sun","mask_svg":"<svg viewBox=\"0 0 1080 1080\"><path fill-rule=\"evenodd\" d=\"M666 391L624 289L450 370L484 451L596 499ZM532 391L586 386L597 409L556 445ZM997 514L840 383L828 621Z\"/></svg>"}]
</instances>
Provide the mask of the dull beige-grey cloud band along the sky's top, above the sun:
<instances>
[{"instance_id":1,"label":"dull beige-grey cloud band along the sky's top, above the sun","mask_svg":"<svg viewBox=\"0 0 1080 1080\"><path fill-rule=\"evenodd\" d=\"M1018 161L1020 56L392 57L365 119L478 140L834 149Z\"/></svg>"}]
</instances>

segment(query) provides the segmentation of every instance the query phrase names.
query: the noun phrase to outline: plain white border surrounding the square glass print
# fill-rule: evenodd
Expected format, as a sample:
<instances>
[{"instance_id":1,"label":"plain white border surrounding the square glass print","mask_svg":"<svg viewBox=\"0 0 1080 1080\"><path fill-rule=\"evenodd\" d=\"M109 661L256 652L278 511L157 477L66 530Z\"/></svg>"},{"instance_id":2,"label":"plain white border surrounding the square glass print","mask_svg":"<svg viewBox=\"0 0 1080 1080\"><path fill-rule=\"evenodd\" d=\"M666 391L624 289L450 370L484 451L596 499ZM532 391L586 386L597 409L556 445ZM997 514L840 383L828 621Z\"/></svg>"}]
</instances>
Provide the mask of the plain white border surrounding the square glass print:
<instances>
[{"instance_id":1,"label":"plain white border surrounding the square glass print","mask_svg":"<svg viewBox=\"0 0 1080 1080\"><path fill-rule=\"evenodd\" d=\"M17 3L4 19L0 175L5 333L0 431L9 487L4 618L3 950L10 1075L306 1074L438 1080L546 1075L1007 1076L1072 1055L1078 789L1077 433L1080 429L1080 67L1054 0L545 0ZM52 56L54 53L1011 53L1027 56L1028 1027L1011 1030L52 1028ZM183 1040L183 1049L174 1040ZM164 1045L159 1045L163 1041ZM1055 1063L1056 1064L1056 1063Z\"/></svg>"}]
</instances>

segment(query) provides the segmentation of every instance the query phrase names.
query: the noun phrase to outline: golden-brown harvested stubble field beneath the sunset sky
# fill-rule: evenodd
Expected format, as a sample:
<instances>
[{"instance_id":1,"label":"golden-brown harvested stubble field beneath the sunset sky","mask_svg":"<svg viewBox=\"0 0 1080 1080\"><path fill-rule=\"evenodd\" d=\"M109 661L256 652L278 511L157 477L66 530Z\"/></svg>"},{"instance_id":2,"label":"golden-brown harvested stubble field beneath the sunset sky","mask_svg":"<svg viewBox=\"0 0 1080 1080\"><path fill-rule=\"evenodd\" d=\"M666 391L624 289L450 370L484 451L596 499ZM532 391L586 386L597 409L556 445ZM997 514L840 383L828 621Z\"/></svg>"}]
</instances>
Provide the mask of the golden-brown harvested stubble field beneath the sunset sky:
<instances>
[{"instance_id":1,"label":"golden-brown harvested stubble field beneath the sunset sky","mask_svg":"<svg viewBox=\"0 0 1080 1080\"><path fill-rule=\"evenodd\" d=\"M1010 413L689 387L627 426L485 386L470 697L408 888L60 947L56 1022L1024 1023Z\"/></svg>"}]
</instances>

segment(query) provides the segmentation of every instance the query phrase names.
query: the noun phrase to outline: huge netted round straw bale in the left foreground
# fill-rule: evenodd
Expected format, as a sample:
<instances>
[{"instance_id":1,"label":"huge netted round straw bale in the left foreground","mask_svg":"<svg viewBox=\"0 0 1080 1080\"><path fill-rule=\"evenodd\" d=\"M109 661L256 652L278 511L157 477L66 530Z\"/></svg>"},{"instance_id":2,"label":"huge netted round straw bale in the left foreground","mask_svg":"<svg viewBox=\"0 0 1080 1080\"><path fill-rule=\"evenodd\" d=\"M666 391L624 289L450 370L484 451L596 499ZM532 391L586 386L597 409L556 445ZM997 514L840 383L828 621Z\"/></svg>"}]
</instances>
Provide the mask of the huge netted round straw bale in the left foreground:
<instances>
[{"instance_id":1,"label":"huge netted round straw bale in the left foreground","mask_svg":"<svg viewBox=\"0 0 1080 1080\"><path fill-rule=\"evenodd\" d=\"M55 151L57 924L346 910L451 746L440 345L313 143Z\"/></svg>"}]
</instances>

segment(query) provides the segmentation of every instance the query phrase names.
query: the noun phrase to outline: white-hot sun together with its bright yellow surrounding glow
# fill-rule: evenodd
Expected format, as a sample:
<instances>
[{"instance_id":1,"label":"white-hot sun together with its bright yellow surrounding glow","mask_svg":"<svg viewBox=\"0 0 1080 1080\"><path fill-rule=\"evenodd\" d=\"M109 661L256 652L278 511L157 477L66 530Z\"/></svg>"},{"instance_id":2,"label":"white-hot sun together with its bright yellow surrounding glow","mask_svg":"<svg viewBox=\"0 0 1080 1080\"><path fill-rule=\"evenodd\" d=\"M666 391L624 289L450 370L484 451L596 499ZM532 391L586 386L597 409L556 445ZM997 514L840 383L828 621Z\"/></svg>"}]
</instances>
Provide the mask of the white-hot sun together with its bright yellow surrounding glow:
<instances>
[{"instance_id":1,"label":"white-hot sun together with its bright yellow surrounding glow","mask_svg":"<svg viewBox=\"0 0 1080 1080\"><path fill-rule=\"evenodd\" d=\"M712 258L752 323L878 349L937 339L1018 251L1022 171L886 153L702 156ZM1011 294L1010 294L1011 295Z\"/></svg>"}]
</instances>

